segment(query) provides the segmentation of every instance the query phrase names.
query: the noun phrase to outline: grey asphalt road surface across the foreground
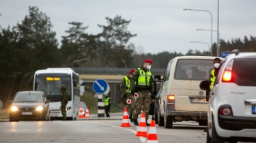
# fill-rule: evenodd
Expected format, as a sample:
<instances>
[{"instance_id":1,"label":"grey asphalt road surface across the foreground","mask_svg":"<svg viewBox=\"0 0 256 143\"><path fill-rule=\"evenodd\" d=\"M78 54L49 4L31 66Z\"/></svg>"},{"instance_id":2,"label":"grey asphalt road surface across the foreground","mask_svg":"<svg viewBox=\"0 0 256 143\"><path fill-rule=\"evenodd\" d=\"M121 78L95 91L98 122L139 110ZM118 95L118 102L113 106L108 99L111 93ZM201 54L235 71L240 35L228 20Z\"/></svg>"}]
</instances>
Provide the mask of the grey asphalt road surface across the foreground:
<instances>
[{"instance_id":1,"label":"grey asphalt road surface across the foreground","mask_svg":"<svg viewBox=\"0 0 256 143\"><path fill-rule=\"evenodd\" d=\"M122 116L121 116L122 118ZM150 121L150 120L149 120ZM0 122L0 142L146 142L136 137L138 126L120 127L122 119L78 121ZM150 127L147 127L149 131ZM173 129L156 125L158 142L205 142L205 127L193 122L174 123Z\"/></svg>"}]
</instances>

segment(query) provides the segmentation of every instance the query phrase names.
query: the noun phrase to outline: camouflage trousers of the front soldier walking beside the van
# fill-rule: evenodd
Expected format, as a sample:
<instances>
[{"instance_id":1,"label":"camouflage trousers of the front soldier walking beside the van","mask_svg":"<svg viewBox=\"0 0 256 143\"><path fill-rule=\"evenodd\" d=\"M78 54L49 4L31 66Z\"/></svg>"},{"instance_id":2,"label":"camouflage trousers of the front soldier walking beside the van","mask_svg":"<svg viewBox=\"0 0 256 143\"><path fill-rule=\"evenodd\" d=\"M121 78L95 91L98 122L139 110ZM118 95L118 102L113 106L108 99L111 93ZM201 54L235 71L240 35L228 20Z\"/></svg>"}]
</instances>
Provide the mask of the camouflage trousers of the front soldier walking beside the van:
<instances>
[{"instance_id":1,"label":"camouflage trousers of the front soldier walking beside the van","mask_svg":"<svg viewBox=\"0 0 256 143\"><path fill-rule=\"evenodd\" d=\"M136 106L135 110L133 112L133 118L136 120L138 118L138 115L141 113L141 110L145 113L145 120L147 121L147 118L150 113L150 92L138 92L139 97L136 99ZM142 109L143 108L143 109Z\"/></svg>"}]
</instances>

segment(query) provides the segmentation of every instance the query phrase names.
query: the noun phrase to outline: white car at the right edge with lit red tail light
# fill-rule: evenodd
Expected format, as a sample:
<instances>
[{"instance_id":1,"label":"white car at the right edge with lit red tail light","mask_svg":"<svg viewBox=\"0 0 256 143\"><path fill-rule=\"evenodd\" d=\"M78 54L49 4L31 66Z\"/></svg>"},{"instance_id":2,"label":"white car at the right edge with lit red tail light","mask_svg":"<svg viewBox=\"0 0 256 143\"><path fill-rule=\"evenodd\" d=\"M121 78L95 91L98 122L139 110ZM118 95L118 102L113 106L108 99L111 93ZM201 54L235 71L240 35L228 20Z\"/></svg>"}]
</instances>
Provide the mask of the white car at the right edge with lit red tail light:
<instances>
[{"instance_id":1,"label":"white car at the right edge with lit red tail light","mask_svg":"<svg viewBox=\"0 0 256 143\"><path fill-rule=\"evenodd\" d=\"M221 69L208 104L207 142L256 142L256 52L233 50ZM208 90L210 82L201 82Z\"/></svg>"}]
</instances>

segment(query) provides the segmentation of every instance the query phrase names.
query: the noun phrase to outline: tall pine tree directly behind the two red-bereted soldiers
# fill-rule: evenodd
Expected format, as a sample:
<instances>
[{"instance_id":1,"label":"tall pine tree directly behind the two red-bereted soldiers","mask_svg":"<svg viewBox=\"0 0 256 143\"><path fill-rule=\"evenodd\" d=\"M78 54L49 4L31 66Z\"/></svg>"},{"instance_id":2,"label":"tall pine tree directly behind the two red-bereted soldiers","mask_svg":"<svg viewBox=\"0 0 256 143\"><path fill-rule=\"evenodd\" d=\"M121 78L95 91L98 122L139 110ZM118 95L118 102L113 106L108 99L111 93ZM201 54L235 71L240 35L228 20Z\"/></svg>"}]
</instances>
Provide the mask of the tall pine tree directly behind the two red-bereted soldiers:
<instances>
[{"instance_id":1,"label":"tall pine tree directly behind the two red-bereted soldiers","mask_svg":"<svg viewBox=\"0 0 256 143\"><path fill-rule=\"evenodd\" d=\"M111 61L117 67L128 67L132 61L133 50L126 46L131 37L136 34L128 31L130 20L124 20L121 16L115 16L114 19L106 17L108 25L98 25L103 31L100 33L103 42L100 44L102 53L106 55L104 61ZM129 61L129 62L128 62Z\"/></svg>"}]
</instances>

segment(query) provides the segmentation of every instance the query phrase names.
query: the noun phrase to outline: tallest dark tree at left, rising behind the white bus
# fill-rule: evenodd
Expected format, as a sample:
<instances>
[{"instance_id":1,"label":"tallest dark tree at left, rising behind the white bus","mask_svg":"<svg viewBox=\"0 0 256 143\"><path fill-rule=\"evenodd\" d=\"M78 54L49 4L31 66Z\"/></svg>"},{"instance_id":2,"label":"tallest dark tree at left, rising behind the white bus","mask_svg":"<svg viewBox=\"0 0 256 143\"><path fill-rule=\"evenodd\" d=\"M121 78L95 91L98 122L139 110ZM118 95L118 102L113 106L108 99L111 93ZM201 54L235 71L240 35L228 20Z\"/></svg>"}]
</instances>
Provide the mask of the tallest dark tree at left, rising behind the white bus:
<instances>
[{"instance_id":1,"label":"tallest dark tree at left, rising behind the white bus","mask_svg":"<svg viewBox=\"0 0 256 143\"><path fill-rule=\"evenodd\" d=\"M26 72L46 67L57 67L61 61L57 48L55 32L51 31L50 18L39 11L38 7L29 7L29 15L21 24L17 24L18 44L23 51L23 68Z\"/></svg>"}]
</instances>

